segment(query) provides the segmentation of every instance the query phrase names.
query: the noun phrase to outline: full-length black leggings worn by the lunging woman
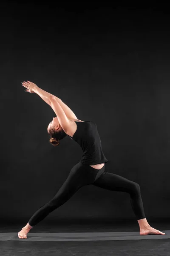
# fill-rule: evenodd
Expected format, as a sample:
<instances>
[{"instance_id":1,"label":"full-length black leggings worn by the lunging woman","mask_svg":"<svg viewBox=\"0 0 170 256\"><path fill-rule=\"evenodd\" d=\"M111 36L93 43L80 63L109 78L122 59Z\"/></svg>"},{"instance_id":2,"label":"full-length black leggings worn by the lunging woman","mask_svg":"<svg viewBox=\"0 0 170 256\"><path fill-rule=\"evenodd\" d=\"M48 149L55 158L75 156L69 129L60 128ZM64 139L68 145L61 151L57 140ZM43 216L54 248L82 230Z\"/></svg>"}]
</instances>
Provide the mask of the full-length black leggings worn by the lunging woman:
<instances>
[{"instance_id":1,"label":"full-length black leggings worn by the lunging woman","mask_svg":"<svg viewBox=\"0 0 170 256\"><path fill-rule=\"evenodd\" d=\"M94 169L93 167L84 163L77 163L69 173L67 179L58 190L57 194L47 204L42 205L37 212L32 215L28 224L34 227L38 222L42 221L50 212L54 211L78 189L82 186L93 184L112 191L127 192L130 195L130 202L137 220L145 218L143 203L140 193L139 184L131 180L127 180L119 175L105 172L105 165L101 169Z\"/></svg>"}]
</instances>

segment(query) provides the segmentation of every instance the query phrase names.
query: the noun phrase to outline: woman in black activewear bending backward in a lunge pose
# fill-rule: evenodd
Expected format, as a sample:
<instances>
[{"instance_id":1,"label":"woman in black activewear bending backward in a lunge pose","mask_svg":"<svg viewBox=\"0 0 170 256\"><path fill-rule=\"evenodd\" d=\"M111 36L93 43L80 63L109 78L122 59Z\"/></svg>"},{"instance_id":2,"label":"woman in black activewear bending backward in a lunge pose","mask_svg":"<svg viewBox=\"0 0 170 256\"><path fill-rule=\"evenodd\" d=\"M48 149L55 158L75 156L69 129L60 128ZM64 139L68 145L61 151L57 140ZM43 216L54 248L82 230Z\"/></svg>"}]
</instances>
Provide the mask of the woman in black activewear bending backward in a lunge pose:
<instances>
[{"instance_id":1,"label":"woman in black activewear bending backward in a lunge pose","mask_svg":"<svg viewBox=\"0 0 170 256\"><path fill-rule=\"evenodd\" d=\"M77 116L61 99L40 89L36 84L24 81L22 85L26 87L27 92L37 93L51 106L57 115L47 128L48 134L51 136L50 143L57 146L59 145L59 140L69 136L80 145L83 154L79 163L71 169L67 179L54 198L42 205L32 215L26 226L18 232L18 237L27 238L27 233L32 227L42 221L50 212L68 201L78 189L89 184L103 189L129 193L131 206L139 223L140 235L164 235L165 233L150 227L145 218L139 184L105 171L105 163L108 160L102 152L102 144L96 123L77 119Z\"/></svg>"}]
</instances>

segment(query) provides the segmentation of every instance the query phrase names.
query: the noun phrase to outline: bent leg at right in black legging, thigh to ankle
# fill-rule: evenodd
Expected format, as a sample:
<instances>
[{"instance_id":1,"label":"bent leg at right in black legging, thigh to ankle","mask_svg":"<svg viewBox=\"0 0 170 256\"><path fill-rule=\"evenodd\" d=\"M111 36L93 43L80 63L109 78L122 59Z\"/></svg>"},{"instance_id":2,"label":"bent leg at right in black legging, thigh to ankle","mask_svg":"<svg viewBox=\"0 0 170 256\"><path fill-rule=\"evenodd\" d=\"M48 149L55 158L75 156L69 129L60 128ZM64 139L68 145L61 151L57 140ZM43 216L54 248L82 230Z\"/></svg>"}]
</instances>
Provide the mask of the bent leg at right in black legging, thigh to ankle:
<instances>
[{"instance_id":1,"label":"bent leg at right in black legging, thigh to ankle","mask_svg":"<svg viewBox=\"0 0 170 256\"><path fill-rule=\"evenodd\" d=\"M137 220L145 218L140 186L138 183L127 180L122 176L105 172L105 174L101 175L93 185L103 189L129 193L130 203Z\"/></svg>"}]
</instances>

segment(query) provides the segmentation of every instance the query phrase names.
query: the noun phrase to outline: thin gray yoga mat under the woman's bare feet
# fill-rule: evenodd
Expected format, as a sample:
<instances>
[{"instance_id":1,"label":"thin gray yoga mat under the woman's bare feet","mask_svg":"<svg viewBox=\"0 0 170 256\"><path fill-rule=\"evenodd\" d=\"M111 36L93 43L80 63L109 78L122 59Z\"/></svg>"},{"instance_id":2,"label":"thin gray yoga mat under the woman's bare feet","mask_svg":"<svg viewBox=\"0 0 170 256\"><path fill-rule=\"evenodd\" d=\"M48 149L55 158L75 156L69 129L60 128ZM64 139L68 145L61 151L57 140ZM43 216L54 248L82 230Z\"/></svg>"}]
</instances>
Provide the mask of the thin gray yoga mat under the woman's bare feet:
<instances>
[{"instance_id":1,"label":"thin gray yoga mat under the woman's bare feet","mask_svg":"<svg viewBox=\"0 0 170 256\"><path fill-rule=\"evenodd\" d=\"M162 231L166 235L140 236L139 232L91 232L91 233L28 233L27 239L19 239L18 233L0 233L0 241L109 241L169 239L170 230Z\"/></svg>"}]
</instances>

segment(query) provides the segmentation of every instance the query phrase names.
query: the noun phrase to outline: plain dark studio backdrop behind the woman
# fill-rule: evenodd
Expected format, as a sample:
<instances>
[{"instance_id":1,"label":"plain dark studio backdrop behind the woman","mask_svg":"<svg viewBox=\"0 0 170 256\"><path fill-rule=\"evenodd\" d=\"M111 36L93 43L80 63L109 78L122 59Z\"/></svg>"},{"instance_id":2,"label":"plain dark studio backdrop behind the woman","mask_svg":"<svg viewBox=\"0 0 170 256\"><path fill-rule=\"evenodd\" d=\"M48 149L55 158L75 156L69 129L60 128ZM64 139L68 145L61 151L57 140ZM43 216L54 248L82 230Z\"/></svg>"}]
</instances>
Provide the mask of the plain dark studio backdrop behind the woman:
<instances>
[{"instance_id":1,"label":"plain dark studio backdrop behind the woman","mask_svg":"<svg viewBox=\"0 0 170 256\"><path fill-rule=\"evenodd\" d=\"M27 223L54 197L82 149L53 147L55 116L21 82L96 122L107 172L140 184L148 220L170 216L170 17L165 8L1 3L1 221ZM81 188L44 221L134 219L129 195Z\"/></svg>"}]
</instances>

